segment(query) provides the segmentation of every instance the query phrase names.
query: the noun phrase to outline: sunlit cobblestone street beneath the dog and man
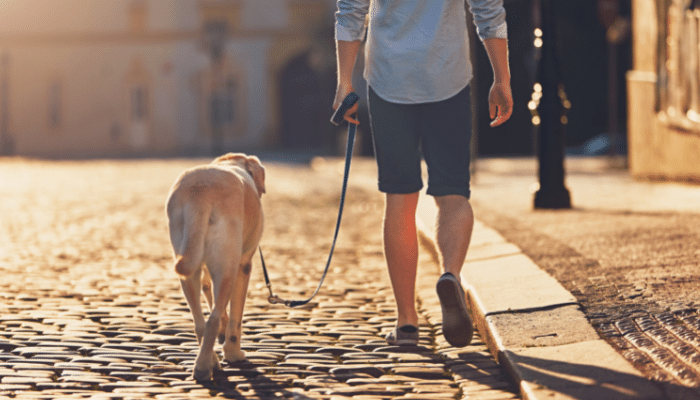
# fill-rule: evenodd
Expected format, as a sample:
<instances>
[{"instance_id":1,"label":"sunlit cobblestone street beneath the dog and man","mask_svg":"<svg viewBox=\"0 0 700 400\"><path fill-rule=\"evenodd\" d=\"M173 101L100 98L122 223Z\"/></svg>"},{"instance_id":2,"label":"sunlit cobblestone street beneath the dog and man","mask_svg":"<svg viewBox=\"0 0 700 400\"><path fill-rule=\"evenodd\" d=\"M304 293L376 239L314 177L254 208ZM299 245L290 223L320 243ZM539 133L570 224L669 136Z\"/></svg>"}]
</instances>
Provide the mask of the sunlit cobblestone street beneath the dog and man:
<instances>
[{"instance_id":1,"label":"sunlit cobblestone street beneath the dog and man","mask_svg":"<svg viewBox=\"0 0 700 400\"><path fill-rule=\"evenodd\" d=\"M190 377L192 319L172 271L164 202L175 177L209 160L49 162L0 159L0 397L514 399L478 337L440 332L423 251L421 341L387 346L394 303L381 248L382 199L371 160L355 160L323 289L299 309L267 303L257 260L243 321L248 360L212 382ZM330 247L342 167L266 163L270 278L308 296ZM220 351L217 345L217 350Z\"/></svg>"}]
</instances>

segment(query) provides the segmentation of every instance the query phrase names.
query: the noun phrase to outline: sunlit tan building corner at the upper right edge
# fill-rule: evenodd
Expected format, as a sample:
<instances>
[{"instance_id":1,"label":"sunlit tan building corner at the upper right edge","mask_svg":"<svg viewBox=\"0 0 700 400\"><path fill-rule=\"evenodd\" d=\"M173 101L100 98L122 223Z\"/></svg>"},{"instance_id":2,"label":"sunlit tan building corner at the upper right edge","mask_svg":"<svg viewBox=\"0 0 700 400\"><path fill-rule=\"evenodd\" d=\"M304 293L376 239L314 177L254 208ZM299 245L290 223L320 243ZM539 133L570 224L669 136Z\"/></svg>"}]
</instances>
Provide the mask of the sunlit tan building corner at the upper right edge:
<instances>
[{"instance_id":1,"label":"sunlit tan building corner at the upper right edge","mask_svg":"<svg viewBox=\"0 0 700 400\"><path fill-rule=\"evenodd\" d=\"M700 181L700 1L632 5L630 171L643 178Z\"/></svg>"}]
</instances>

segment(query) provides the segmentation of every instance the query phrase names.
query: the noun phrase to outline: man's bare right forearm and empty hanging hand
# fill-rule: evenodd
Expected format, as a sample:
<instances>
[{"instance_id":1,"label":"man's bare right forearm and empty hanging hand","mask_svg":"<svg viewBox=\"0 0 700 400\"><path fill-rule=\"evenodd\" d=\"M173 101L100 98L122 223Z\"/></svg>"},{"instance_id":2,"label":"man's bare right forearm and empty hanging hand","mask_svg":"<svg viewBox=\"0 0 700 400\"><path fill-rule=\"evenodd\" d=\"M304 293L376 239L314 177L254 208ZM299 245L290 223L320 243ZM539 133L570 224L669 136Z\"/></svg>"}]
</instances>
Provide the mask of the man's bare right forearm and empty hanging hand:
<instances>
[{"instance_id":1,"label":"man's bare right forearm and empty hanging hand","mask_svg":"<svg viewBox=\"0 0 700 400\"><path fill-rule=\"evenodd\" d=\"M484 47L493 68L493 86L489 92L489 115L491 126L506 122L513 113L513 94L510 89L510 67L508 66L508 40L484 39Z\"/></svg>"}]
</instances>

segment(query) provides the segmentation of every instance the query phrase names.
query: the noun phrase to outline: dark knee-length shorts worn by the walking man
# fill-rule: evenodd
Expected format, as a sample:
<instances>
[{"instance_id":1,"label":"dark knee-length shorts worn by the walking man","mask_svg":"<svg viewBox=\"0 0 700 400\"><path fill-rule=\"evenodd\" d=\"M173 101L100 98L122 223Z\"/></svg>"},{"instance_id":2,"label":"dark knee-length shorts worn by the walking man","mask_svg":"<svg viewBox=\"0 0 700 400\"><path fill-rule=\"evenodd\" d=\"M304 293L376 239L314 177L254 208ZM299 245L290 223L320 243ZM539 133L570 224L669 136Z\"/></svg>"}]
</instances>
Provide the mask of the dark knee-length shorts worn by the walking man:
<instances>
[{"instance_id":1,"label":"dark knee-length shorts worn by the walking man","mask_svg":"<svg viewBox=\"0 0 700 400\"><path fill-rule=\"evenodd\" d=\"M434 103L397 104L368 90L379 190L415 193L423 188L421 156L431 196L469 198L471 98L469 86Z\"/></svg>"}]
</instances>

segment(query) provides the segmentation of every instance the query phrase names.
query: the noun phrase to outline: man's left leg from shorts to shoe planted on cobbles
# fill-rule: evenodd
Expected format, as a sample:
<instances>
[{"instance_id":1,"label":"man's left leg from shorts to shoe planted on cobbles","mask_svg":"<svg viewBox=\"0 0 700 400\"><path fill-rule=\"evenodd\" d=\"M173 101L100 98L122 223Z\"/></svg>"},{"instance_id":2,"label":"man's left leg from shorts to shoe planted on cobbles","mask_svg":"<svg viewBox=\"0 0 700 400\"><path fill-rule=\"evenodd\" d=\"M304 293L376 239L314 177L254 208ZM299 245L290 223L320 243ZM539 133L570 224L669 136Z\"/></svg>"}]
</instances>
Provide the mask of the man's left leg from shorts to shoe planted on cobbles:
<instances>
[{"instance_id":1,"label":"man's left leg from shorts to shoe planted on cobbles","mask_svg":"<svg viewBox=\"0 0 700 400\"><path fill-rule=\"evenodd\" d=\"M388 102L368 90L368 105L377 159L379 190L386 193L384 256L396 299L398 328L387 335L390 344L416 344L416 270L418 235L416 207L421 179L417 107ZM411 325L412 327L406 327Z\"/></svg>"}]
</instances>

